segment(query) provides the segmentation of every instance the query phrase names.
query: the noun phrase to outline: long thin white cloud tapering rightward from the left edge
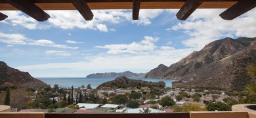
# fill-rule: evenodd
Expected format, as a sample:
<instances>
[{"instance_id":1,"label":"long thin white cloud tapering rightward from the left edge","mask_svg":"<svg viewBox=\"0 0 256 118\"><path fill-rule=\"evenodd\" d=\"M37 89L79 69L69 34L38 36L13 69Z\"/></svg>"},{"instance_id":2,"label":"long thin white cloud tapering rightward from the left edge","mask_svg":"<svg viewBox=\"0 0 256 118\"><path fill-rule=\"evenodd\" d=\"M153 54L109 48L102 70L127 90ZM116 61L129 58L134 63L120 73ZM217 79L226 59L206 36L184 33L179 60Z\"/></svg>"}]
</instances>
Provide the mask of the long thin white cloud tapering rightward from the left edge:
<instances>
[{"instance_id":1,"label":"long thin white cloud tapering rightward from the left edge","mask_svg":"<svg viewBox=\"0 0 256 118\"><path fill-rule=\"evenodd\" d=\"M8 45L37 45L45 47L56 47L60 49L78 49L78 47L68 47L67 45L58 45L47 39L33 40L19 33L2 33L0 32L0 42Z\"/></svg>"}]
</instances>

